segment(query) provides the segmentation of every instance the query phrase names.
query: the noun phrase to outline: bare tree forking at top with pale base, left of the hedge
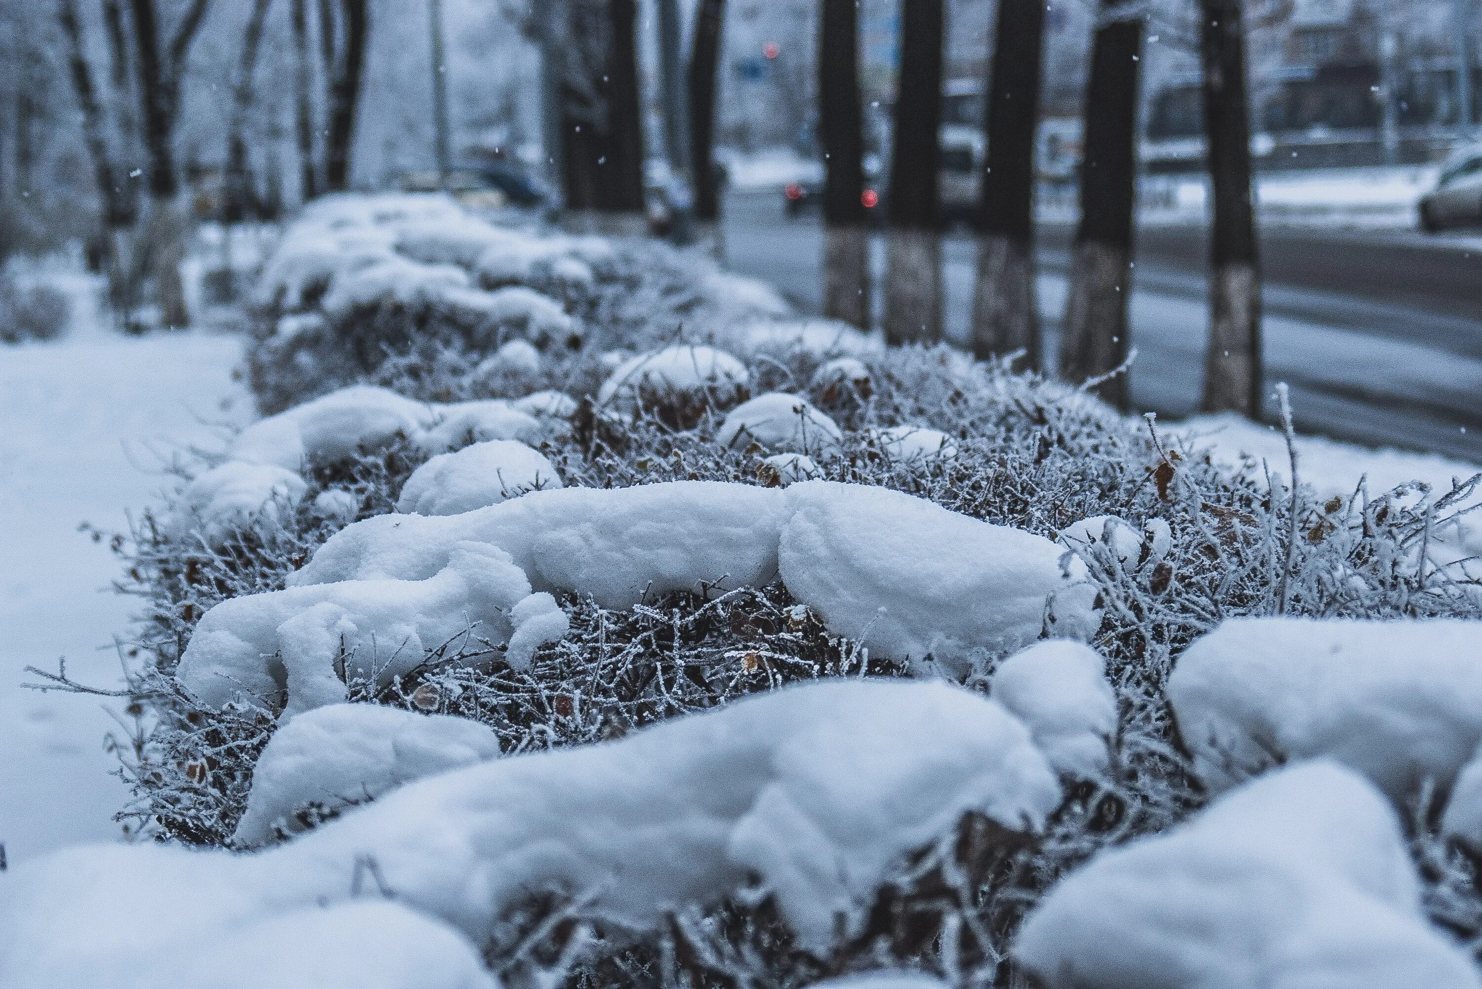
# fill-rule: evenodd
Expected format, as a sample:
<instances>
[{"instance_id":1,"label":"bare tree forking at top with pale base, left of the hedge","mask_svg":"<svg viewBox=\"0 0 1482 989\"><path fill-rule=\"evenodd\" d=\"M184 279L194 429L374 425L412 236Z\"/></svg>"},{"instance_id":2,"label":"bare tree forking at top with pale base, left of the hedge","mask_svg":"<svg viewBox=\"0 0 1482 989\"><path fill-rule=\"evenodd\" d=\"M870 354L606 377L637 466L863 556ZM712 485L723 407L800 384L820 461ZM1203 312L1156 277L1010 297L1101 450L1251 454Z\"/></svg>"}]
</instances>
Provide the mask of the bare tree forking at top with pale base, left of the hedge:
<instances>
[{"instance_id":1,"label":"bare tree forking at top with pale base, left of the hedge","mask_svg":"<svg viewBox=\"0 0 1482 989\"><path fill-rule=\"evenodd\" d=\"M190 46L210 0L190 0L169 37L162 37L156 0L129 0L133 25L135 70L139 83L144 151L148 158L150 219L145 243L154 275L156 302L166 326L185 326L185 216L179 204L175 166L175 124L179 120L181 83Z\"/></svg>"}]
</instances>

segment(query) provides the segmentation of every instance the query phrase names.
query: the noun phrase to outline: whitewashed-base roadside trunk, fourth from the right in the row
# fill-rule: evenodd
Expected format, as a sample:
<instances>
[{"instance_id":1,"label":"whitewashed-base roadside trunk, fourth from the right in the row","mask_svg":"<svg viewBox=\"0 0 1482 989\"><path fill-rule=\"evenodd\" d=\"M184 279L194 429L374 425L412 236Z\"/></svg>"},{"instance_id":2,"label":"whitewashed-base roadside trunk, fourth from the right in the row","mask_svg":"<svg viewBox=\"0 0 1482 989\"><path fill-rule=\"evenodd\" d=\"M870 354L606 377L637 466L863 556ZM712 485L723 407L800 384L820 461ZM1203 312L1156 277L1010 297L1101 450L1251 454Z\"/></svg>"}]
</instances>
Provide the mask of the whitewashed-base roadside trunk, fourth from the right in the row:
<instances>
[{"instance_id":1,"label":"whitewashed-base roadside trunk, fourth from the right in the row","mask_svg":"<svg viewBox=\"0 0 1482 989\"><path fill-rule=\"evenodd\" d=\"M885 338L941 339L943 0L904 0L900 93L891 151Z\"/></svg>"}]
</instances>

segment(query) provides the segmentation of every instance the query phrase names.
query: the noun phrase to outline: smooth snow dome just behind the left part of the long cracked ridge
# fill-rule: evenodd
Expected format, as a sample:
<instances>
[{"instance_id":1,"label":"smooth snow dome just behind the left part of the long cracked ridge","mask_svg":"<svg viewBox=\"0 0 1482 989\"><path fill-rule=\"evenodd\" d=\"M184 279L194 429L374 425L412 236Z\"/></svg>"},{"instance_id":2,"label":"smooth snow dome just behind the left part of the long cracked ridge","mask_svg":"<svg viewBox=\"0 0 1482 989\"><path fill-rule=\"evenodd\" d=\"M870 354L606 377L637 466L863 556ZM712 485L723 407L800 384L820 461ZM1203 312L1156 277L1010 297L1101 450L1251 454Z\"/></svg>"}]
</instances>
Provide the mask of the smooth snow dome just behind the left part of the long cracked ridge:
<instances>
[{"instance_id":1,"label":"smooth snow dome just behind the left part of the long cracked ridge","mask_svg":"<svg viewBox=\"0 0 1482 989\"><path fill-rule=\"evenodd\" d=\"M439 453L412 471L396 511L456 515L557 487L563 487L560 474L539 453L516 440L488 440Z\"/></svg>"}]
</instances>

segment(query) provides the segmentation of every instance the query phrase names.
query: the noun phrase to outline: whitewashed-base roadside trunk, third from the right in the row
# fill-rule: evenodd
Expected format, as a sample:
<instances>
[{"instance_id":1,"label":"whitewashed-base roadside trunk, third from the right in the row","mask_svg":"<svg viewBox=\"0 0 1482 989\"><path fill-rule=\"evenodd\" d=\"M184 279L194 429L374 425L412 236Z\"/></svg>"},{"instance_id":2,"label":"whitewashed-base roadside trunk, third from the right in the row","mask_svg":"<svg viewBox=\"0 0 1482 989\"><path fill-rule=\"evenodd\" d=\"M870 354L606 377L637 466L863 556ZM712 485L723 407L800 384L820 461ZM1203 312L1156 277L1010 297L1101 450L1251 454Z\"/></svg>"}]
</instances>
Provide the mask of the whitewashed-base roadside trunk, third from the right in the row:
<instances>
[{"instance_id":1,"label":"whitewashed-base roadside trunk, third from the right in the row","mask_svg":"<svg viewBox=\"0 0 1482 989\"><path fill-rule=\"evenodd\" d=\"M977 216L972 351L980 358L1024 351L1030 369L1039 367L1034 138L1043 49L1043 0L999 0L984 117L987 160Z\"/></svg>"}]
</instances>

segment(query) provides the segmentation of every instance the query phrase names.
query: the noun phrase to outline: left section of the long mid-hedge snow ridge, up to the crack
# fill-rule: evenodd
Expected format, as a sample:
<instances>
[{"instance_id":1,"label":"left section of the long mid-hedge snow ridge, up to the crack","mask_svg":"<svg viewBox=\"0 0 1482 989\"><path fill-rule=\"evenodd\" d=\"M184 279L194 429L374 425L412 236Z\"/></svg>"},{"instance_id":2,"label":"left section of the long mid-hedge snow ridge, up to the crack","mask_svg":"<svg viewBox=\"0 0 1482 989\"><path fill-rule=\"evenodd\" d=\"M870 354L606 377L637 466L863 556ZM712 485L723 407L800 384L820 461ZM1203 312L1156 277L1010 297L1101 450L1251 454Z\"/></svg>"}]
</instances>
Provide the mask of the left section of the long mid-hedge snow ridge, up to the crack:
<instances>
[{"instance_id":1,"label":"left section of the long mid-hedge snow ridge, up to the crack","mask_svg":"<svg viewBox=\"0 0 1482 989\"><path fill-rule=\"evenodd\" d=\"M464 540L510 554L536 591L590 594L625 609L705 586L766 586L777 576L782 493L723 481L569 487L461 515L381 515L335 533L289 577L293 586L422 580Z\"/></svg>"}]
</instances>

